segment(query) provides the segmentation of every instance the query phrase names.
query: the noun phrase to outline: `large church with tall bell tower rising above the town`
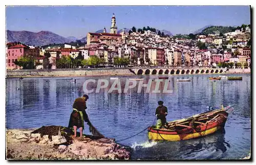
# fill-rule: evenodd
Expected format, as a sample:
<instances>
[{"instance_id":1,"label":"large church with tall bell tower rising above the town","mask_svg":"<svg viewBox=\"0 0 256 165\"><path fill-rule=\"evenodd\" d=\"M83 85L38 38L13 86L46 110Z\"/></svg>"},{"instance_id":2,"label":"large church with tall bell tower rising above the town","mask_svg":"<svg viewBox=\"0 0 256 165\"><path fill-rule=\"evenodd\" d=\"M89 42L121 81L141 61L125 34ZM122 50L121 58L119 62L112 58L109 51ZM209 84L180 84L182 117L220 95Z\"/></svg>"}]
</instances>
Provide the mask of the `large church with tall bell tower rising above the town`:
<instances>
[{"instance_id":1,"label":"large church with tall bell tower rising above the town","mask_svg":"<svg viewBox=\"0 0 256 165\"><path fill-rule=\"evenodd\" d=\"M87 46L104 43L106 45L118 44L122 42L122 35L117 34L117 25L115 14L112 16L110 33L106 33L104 28L103 33L88 33Z\"/></svg>"}]
</instances>

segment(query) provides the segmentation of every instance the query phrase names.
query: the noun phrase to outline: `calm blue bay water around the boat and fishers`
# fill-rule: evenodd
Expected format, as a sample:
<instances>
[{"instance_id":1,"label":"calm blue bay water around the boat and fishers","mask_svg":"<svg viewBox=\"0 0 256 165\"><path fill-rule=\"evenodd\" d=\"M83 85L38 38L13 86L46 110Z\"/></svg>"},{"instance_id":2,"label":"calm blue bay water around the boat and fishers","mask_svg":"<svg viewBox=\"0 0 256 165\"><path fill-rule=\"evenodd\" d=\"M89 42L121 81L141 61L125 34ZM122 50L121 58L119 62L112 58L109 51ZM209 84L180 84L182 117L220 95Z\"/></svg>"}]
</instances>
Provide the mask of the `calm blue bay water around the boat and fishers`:
<instances>
[{"instance_id":1,"label":"calm blue bay water around the boat and fishers","mask_svg":"<svg viewBox=\"0 0 256 165\"><path fill-rule=\"evenodd\" d=\"M211 75L212 76L212 75ZM216 76L216 75L215 75ZM218 75L217 75L218 76ZM225 130L206 137L180 142L148 143L147 132L120 142L134 148L133 159L233 159L245 157L251 147L250 75L242 81L209 81L209 75L170 76L172 93L146 93L137 88L127 93L90 93L87 113L93 125L105 136L121 140L156 123L157 101L168 108L167 121L183 119L207 111L207 106L231 105ZM157 76L144 76L153 79ZM176 82L177 78L191 82ZM110 77L98 77L95 79ZM127 78L121 77L121 82ZM141 78L141 77L140 77ZM39 128L68 126L72 105L84 94L89 78L10 78L6 80L6 127ZM145 80L145 81L146 81ZM154 85L153 85L154 86ZM91 88L96 86L91 85ZM161 89L162 86L160 86ZM85 125L88 126L88 125ZM85 133L90 134L88 127Z\"/></svg>"}]
</instances>

